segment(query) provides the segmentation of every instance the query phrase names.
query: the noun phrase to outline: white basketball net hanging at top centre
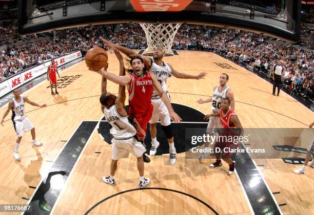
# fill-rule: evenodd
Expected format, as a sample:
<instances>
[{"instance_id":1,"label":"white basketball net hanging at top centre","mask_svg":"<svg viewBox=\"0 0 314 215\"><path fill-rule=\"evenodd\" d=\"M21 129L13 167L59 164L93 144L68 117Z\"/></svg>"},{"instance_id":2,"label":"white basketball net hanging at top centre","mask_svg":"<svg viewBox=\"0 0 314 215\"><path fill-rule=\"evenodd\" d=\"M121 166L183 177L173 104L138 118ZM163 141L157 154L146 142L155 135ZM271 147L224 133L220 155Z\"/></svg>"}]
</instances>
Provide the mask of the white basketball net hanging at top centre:
<instances>
[{"instance_id":1,"label":"white basketball net hanging at top centre","mask_svg":"<svg viewBox=\"0 0 314 215\"><path fill-rule=\"evenodd\" d=\"M171 53L172 42L180 24L147 24L140 23L147 39L147 51L163 49L166 53Z\"/></svg>"}]
</instances>

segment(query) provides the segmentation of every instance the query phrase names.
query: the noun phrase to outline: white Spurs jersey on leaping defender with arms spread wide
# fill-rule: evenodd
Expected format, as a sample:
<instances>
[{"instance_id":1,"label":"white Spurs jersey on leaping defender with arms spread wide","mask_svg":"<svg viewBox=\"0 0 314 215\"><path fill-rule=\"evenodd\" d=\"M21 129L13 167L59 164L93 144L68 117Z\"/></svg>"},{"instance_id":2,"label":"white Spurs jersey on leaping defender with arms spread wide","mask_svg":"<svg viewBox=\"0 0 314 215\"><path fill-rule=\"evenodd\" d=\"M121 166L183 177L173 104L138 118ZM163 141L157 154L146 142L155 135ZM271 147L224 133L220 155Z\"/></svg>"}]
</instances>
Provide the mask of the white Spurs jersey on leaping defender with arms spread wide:
<instances>
[{"instance_id":1,"label":"white Spurs jersey on leaping defender with arms spread wide","mask_svg":"<svg viewBox=\"0 0 314 215\"><path fill-rule=\"evenodd\" d=\"M172 77L171 75L171 68L169 67L169 65L167 65L167 63L165 63L163 61L163 64L164 66L159 66L157 65L153 58L151 59L151 67L149 68L149 71L154 73L157 80L161 83L162 85L162 89L163 91L166 93L167 92L167 84L166 84L166 81L167 81L167 78L168 77ZM154 97L159 97L159 94L158 92L154 89L153 90L153 94L152 94L152 98L154 99Z\"/></svg>"}]
</instances>

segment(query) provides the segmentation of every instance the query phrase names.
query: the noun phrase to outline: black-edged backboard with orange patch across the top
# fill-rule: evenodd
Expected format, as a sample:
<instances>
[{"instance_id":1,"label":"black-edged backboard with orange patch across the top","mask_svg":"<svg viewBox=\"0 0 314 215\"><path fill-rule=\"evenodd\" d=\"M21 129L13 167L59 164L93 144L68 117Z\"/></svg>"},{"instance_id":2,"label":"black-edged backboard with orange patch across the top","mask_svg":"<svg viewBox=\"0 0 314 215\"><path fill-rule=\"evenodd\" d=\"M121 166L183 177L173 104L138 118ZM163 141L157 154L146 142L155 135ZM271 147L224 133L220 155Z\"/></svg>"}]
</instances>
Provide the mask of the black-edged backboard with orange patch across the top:
<instances>
[{"instance_id":1,"label":"black-edged backboard with orange patch across the top","mask_svg":"<svg viewBox=\"0 0 314 215\"><path fill-rule=\"evenodd\" d=\"M221 26L296 42L300 39L301 1L18 0L21 34L129 22Z\"/></svg>"}]
</instances>

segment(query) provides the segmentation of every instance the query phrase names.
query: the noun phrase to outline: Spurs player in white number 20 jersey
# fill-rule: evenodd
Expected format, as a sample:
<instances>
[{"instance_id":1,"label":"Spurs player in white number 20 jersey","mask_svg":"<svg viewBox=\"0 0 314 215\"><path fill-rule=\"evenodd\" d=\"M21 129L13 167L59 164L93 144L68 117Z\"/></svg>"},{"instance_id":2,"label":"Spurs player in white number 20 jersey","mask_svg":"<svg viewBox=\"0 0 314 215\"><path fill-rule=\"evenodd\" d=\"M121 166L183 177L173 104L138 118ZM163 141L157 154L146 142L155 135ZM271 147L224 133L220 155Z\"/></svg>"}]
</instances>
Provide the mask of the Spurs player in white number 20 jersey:
<instances>
[{"instance_id":1,"label":"Spurs player in white number 20 jersey","mask_svg":"<svg viewBox=\"0 0 314 215\"><path fill-rule=\"evenodd\" d=\"M199 99L199 104L211 102L211 114L219 114L220 104L223 98L228 97L230 99L230 109L234 111L234 95L232 90L227 86L229 76L222 73L219 77L219 85L213 88L213 95L210 98ZM221 128L221 122L219 117L210 117L207 125L207 134L212 135L215 133L215 128ZM205 147L208 147L209 143L205 143ZM202 153L198 159L202 160L205 157L205 153Z\"/></svg>"}]
</instances>

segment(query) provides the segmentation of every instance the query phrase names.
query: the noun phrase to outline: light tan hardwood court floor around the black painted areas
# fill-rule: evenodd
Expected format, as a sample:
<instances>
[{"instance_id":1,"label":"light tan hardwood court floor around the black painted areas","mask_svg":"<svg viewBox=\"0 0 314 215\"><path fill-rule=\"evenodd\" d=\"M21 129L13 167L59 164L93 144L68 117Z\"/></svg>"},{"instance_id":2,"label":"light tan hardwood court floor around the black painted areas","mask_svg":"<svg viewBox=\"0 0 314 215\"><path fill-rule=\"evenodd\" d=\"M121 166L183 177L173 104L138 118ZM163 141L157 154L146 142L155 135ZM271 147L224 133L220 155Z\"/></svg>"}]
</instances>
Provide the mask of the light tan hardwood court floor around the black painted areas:
<instances>
[{"instance_id":1,"label":"light tan hardwood court floor around the black painted areas","mask_svg":"<svg viewBox=\"0 0 314 215\"><path fill-rule=\"evenodd\" d=\"M118 73L114 54L109 55L108 71ZM166 57L166 62L178 71L198 74L206 71L206 79L189 80L169 78L167 81L171 102L191 106L203 113L210 113L210 103L198 104L199 98L212 96L213 87L219 84L221 73L229 75L228 85L235 95L235 112L246 128L289 128L307 127L314 114L301 103L281 92L279 97L271 95L272 85L234 63L209 52L180 52L180 56ZM75 75L82 75L76 78ZM47 103L44 109L26 104L27 117L36 128L36 139L43 146L32 148L31 136L25 134L19 148L21 162L14 162L12 154L16 134L8 116L4 127L0 127L0 204L26 204L34 192L33 188L44 178L52 162L82 120L100 120L101 93L100 75L87 70L85 63L67 69L62 77L71 79L60 95L51 96L48 82L27 91L23 96L37 103ZM71 76L71 77L70 77ZM68 81L63 78L64 82ZM117 85L108 82L108 92L117 93ZM7 106L0 109L2 116ZM187 113L178 113L184 120ZM175 138L175 137L174 137ZM101 152L95 154L94 152ZM295 156L305 157L302 154ZM152 182L149 187L161 187L188 193L206 202L219 214L250 214L243 189L237 176L226 175L227 165L210 169L212 160L185 159L178 155L177 163L168 164L168 156L155 156L145 166L145 176ZM284 214L310 214L314 211L312 182L314 169L307 168L304 175L297 176L293 169L300 165L286 164L281 159L257 159L263 164L259 169L278 204L286 203ZM119 161L115 187L102 182L110 168L110 146L95 132L77 161L70 177L55 205L54 214L82 214L97 202L114 193L138 187L135 159ZM103 214L210 214L202 203L180 193L166 190L136 190L115 196L92 212Z\"/></svg>"}]
</instances>

